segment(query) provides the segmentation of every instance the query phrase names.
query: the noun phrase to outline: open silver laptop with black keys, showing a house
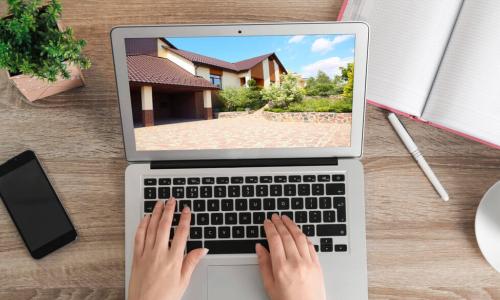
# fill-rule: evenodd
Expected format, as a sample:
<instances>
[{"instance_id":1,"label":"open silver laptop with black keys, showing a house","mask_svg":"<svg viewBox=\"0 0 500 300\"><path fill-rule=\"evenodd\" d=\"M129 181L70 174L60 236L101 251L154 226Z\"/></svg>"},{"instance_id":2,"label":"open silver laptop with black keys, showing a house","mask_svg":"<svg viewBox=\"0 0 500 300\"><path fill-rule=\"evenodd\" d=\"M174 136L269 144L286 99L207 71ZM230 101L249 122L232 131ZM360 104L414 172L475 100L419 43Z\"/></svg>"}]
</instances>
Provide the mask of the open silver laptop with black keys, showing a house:
<instances>
[{"instance_id":1,"label":"open silver laptop with black keys, showing a house","mask_svg":"<svg viewBox=\"0 0 500 300\"><path fill-rule=\"evenodd\" d=\"M368 26L122 26L111 40L129 162L126 285L140 219L173 196L193 212L186 251L210 250L183 299L267 299L255 243L267 244L273 213L315 245L328 299L367 299Z\"/></svg>"}]
</instances>

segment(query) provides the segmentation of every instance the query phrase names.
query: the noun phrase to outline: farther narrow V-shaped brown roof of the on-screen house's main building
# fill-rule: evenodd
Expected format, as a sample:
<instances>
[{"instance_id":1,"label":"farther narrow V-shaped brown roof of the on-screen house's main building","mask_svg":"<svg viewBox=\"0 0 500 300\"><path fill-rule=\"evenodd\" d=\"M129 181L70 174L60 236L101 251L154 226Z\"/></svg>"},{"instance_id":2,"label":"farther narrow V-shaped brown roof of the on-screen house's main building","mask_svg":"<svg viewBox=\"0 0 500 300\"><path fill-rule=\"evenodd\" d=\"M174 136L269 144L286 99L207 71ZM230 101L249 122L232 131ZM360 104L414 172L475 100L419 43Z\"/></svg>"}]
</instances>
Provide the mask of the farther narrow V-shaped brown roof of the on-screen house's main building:
<instances>
[{"instance_id":1,"label":"farther narrow V-shaped brown roof of the on-screen house's main building","mask_svg":"<svg viewBox=\"0 0 500 300\"><path fill-rule=\"evenodd\" d=\"M239 62L230 63L227 61L223 61L220 59L216 59L213 57L201 55L201 54L186 51L186 50L172 49L172 48L167 48L167 49L169 51L172 51L172 52L184 57L185 59L187 59L189 61L194 62L194 63L200 63L200 64L209 65L209 66L219 67L219 68L231 70L234 72L241 72L241 71L246 71L248 69L251 69L256 64L260 63L264 59L273 55L273 53L268 53L268 54L264 54L261 56L245 59L245 60L242 60Z\"/></svg>"}]
</instances>

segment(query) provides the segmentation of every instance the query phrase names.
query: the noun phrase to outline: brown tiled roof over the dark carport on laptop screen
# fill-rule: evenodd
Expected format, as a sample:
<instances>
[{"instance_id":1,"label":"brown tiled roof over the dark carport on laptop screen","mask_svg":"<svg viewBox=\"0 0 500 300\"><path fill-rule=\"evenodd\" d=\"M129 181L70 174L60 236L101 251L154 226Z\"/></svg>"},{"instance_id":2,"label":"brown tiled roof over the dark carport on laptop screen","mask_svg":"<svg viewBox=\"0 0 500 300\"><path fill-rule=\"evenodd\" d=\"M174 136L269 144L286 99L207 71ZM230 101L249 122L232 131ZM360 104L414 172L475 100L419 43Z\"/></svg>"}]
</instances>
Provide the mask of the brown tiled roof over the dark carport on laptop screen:
<instances>
[{"instance_id":1,"label":"brown tiled roof over the dark carport on laptop screen","mask_svg":"<svg viewBox=\"0 0 500 300\"><path fill-rule=\"evenodd\" d=\"M149 55L127 56L129 81L219 89L203 77L195 76L168 59Z\"/></svg>"}]
</instances>

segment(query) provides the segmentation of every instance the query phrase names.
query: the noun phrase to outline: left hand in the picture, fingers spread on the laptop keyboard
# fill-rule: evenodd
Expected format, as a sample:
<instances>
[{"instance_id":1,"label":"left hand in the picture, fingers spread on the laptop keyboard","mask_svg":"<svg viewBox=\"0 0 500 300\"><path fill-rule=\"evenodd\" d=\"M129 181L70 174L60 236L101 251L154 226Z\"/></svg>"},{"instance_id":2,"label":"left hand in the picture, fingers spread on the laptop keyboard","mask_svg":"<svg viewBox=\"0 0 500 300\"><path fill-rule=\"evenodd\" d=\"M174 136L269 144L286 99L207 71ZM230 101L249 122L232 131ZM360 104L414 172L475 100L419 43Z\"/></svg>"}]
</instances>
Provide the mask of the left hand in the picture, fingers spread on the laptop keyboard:
<instances>
[{"instance_id":1,"label":"left hand in the picture, fingers spread on the laptop keyboard","mask_svg":"<svg viewBox=\"0 0 500 300\"><path fill-rule=\"evenodd\" d=\"M179 300L191 274L208 249L195 249L184 255L191 212L182 210L171 247L170 227L175 199L165 205L158 201L151 216L142 219L135 235L134 258L129 284L129 300Z\"/></svg>"}]
</instances>

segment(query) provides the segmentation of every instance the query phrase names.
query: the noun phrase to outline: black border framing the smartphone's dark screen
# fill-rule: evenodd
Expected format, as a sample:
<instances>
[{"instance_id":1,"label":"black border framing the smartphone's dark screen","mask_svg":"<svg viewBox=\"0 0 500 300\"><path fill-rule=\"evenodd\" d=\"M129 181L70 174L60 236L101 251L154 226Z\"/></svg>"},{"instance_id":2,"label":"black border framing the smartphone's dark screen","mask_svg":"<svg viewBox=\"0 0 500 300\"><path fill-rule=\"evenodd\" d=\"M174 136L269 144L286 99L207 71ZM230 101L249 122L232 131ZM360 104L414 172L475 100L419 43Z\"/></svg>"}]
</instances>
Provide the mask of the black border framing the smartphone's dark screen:
<instances>
[{"instance_id":1,"label":"black border framing the smartphone's dark screen","mask_svg":"<svg viewBox=\"0 0 500 300\"><path fill-rule=\"evenodd\" d=\"M71 226L71 229L69 231L63 233L62 235L60 235L52 240L47 241L46 243L44 243L44 245L40 246L39 248L31 249L27 243L24 232L18 226L17 220L15 219L14 215L10 211L9 205L7 204L7 201L9 201L9 200L5 199L2 196L1 191L0 191L0 198L2 198L2 201L4 202L4 205L7 209L7 212L9 213L10 218L12 219L12 222L14 222L14 225L16 226L17 231L21 235L21 238L22 238L24 244L26 245L26 248L30 252L30 255L35 259L40 259L40 258L44 257L45 255L47 255L47 254L61 248L62 246L74 241L77 238L77 233L76 233L76 229L75 229L73 223L71 222L66 210L64 209L64 206L62 205L62 203L59 199L59 196L57 195L56 191L54 190L54 187L52 186L47 174L45 173L44 169L42 168L42 165L40 164L38 158L36 157L36 154L33 151L31 151L31 150L24 151L23 153L8 160L3 165L0 165L0 178L6 174L9 174L12 171L17 170L19 167L21 167L21 166L23 166L26 163L31 162L31 161L35 161L35 163L37 164L37 166L40 170L40 173L43 176L45 176L45 179L47 180L47 182L49 182L49 187L50 187L52 193L54 193L56 200L59 203L59 206L62 208L63 216L68 220L68 222Z\"/></svg>"}]
</instances>

